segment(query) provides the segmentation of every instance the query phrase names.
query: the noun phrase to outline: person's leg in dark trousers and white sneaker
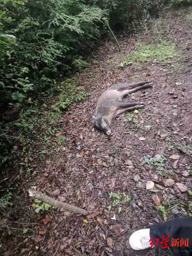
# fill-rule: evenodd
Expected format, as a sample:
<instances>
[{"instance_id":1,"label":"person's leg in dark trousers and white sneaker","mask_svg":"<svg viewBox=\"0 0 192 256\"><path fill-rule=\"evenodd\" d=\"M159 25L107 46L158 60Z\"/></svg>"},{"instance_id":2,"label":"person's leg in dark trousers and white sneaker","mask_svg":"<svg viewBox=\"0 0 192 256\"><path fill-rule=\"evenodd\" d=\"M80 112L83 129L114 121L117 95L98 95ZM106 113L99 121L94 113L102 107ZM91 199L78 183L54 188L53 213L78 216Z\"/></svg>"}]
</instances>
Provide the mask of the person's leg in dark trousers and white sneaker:
<instances>
[{"instance_id":1,"label":"person's leg in dark trousers and white sneaker","mask_svg":"<svg viewBox=\"0 0 192 256\"><path fill-rule=\"evenodd\" d=\"M130 236L129 243L134 250L153 247L154 244L163 248L169 246L177 252L192 252L192 217L177 218L154 224L148 229L137 230Z\"/></svg>"}]
</instances>

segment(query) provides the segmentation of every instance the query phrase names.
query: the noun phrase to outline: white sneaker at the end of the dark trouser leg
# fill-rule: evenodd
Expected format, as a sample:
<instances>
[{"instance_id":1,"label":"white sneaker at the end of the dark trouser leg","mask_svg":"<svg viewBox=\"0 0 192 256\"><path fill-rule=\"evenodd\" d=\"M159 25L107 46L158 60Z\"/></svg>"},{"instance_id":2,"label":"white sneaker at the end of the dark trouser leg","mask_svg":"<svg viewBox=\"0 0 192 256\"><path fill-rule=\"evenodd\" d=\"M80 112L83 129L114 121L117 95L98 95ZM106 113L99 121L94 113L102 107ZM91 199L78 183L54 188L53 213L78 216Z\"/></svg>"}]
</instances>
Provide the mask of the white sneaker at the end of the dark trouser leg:
<instances>
[{"instance_id":1,"label":"white sneaker at the end of the dark trouser leg","mask_svg":"<svg viewBox=\"0 0 192 256\"><path fill-rule=\"evenodd\" d=\"M143 250L151 247L150 245L150 228L135 231L129 238L129 244L133 250Z\"/></svg>"}]
</instances>

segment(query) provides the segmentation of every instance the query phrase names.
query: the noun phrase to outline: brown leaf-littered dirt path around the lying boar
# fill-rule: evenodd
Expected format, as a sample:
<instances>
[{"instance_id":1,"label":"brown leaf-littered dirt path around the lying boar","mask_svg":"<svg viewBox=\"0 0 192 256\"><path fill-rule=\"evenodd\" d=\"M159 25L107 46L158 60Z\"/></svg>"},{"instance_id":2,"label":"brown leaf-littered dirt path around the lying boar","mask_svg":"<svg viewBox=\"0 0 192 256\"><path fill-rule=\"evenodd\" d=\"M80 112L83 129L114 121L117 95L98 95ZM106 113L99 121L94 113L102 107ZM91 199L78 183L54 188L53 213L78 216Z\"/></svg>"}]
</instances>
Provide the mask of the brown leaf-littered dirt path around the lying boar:
<instances>
[{"instance_id":1,"label":"brown leaf-littered dirt path around the lying boar","mask_svg":"<svg viewBox=\"0 0 192 256\"><path fill-rule=\"evenodd\" d=\"M121 53L114 42L103 43L91 68L78 78L91 96L73 104L59 121L59 132L67 141L59 152L52 143L46 163L36 165L33 184L63 202L98 212L92 219L52 210L46 223L44 217L36 218L28 201L22 204L26 211L20 222L30 215L29 223L36 225L29 226L33 233L26 241L12 238L12 254L170 255L165 250L133 252L127 238L135 229L192 213L187 192L192 190L191 38L191 10L182 10L155 20L151 30L138 36L123 36ZM156 45L170 40L175 44L173 58L117 68L138 42ZM144 80L153 81L154 87L128 96L146 102L142 111L118 116L110 138L93 130L91 116L106 88ZM146 190L147 181L155 183L152 190Z\"/></svg>"}]
</instances>

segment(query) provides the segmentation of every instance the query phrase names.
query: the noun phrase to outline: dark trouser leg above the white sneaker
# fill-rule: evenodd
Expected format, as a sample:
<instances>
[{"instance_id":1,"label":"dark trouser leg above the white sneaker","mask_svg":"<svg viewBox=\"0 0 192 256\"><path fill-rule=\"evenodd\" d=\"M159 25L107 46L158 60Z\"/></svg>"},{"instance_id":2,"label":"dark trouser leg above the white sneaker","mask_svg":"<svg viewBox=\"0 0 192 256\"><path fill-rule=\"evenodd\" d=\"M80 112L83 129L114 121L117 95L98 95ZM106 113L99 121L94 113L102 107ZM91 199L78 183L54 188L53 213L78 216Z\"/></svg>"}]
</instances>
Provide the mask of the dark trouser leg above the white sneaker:
<instances>
[{"instance_id":1,"label":"dark trouser leg above the white sneaker","mask_svg":"<svg viewBox=\"0 0 192 256\"><path fill-rule=\"evenodd\" d=\"M166 242L167 246L170 246L171 250L176 250L175 255L190 255L192 256L192 217L186 218L177 218L174 220L168 220L164 223L154 224L150 227L150 237L153 236L151 240L153 240L154 248L157 240L159 239L156 245L157 247L164 247L166 246L165 243L161 244L163 241L163 235L167 237L168 242ZM169 235L169 237L168 237ZM179 246L173 246L171 240L178 239ZM188 247L185 244L180 244L180 240L188 238ZM164 237L164 239L166 239ZM165 242L165 240L163 241ZM180 246L181 245L181 246ZM167 250L165 248L165 250ZM182 251L189 251L189 252L182 252Z\"/></svg>"}]
</instances>

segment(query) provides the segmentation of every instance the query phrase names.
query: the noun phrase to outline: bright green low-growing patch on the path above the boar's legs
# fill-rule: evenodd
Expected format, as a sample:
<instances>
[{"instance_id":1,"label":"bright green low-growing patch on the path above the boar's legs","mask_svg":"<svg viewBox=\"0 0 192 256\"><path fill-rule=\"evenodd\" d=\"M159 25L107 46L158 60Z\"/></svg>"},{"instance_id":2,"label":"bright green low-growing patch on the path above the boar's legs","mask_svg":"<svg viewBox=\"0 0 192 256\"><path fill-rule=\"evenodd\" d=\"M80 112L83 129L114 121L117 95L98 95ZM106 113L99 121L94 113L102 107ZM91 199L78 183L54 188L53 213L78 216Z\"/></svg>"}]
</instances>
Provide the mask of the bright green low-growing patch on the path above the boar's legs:
<instances>
[{"instance_id":1,"label":"bright green low-growing patch on the path above the boar's legs","mask_svg":"<svg viewBox=\"0 0 192 256\"><path fill-rule=\"evenodd\" d=\"M137 44L136 50L129 56L124 56L118 67L127 65L138 65L140 62L156 61L173 59L175 57L175 46L172 42L162 42L157 45L152 44Z\"/></svg>"}]
</instances>

